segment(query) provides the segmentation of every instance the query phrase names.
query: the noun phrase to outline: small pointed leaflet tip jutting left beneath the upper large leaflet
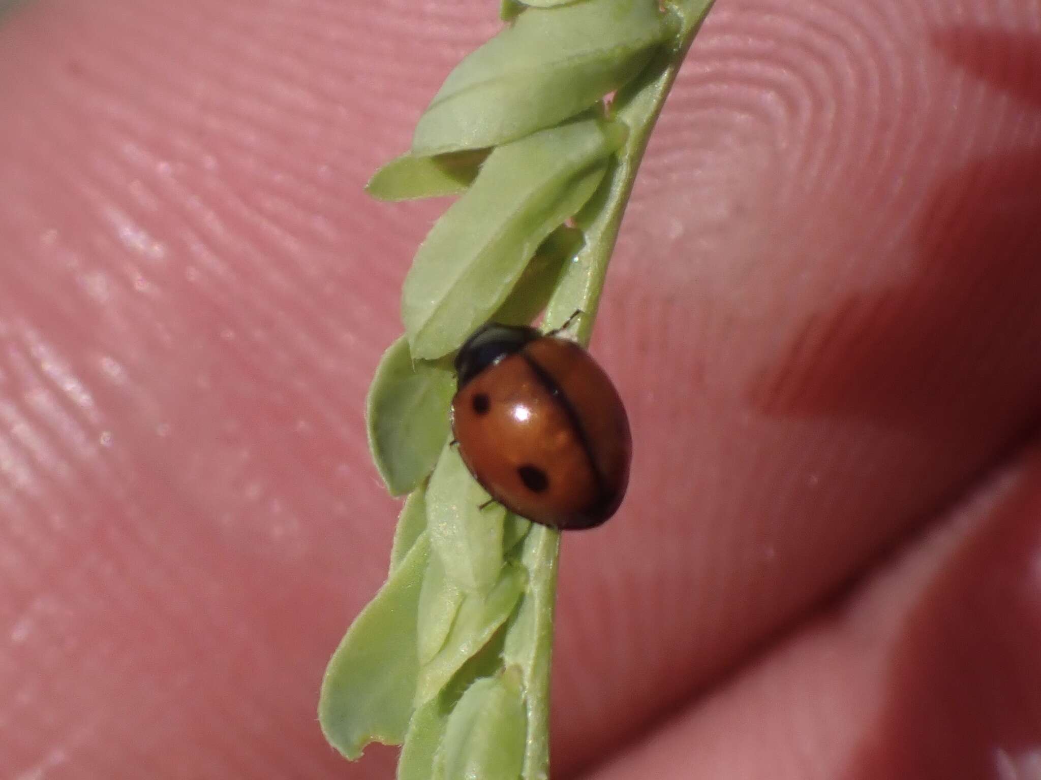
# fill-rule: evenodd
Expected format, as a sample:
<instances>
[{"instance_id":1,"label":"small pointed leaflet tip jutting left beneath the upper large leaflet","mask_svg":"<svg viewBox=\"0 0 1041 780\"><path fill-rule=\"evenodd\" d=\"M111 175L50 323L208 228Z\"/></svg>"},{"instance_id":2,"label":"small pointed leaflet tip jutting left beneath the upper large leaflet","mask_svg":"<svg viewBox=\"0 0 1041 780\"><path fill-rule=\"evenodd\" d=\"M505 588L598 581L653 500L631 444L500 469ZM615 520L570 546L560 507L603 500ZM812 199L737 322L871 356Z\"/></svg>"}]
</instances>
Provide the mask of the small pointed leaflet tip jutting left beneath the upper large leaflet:
<instances>
[{"instance_id":1,"label":"small pointed leaflet tip jutting left beneath the upper large leaflet","mask_svg":"<svg viewBox=\"0 0 1041 780\"><path fill-rule=\"evenodd\" d=\"M365 191L381 201L459 194L477 177L487 156L487 150L435 157L403 154L377 171L365 185Z\"/></svg>"}]
</instances>

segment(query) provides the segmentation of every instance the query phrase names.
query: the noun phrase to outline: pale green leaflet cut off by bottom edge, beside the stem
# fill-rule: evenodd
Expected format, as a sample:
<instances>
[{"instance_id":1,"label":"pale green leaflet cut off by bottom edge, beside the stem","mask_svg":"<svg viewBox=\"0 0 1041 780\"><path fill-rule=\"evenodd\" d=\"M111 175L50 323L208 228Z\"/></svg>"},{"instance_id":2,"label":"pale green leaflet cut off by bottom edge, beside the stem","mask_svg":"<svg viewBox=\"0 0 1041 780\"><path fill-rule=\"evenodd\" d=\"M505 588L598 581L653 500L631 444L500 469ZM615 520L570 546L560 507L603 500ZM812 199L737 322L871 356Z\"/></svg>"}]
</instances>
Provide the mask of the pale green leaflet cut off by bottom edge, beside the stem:
<instances>
[{"instance_id":1,"label":"pale green leaflet cut off by bottom edge, beside the stem","mask_svg":"<svg viewBox=\"0 0 1041 780\"><path fill-rule=\"evenodd\" d=\"M517 678L507 670L499 677L477 680L462 695L449 716L437 756L445 777L517 780L520 776L527 714Z\"/></svg>"}]
</instances>

